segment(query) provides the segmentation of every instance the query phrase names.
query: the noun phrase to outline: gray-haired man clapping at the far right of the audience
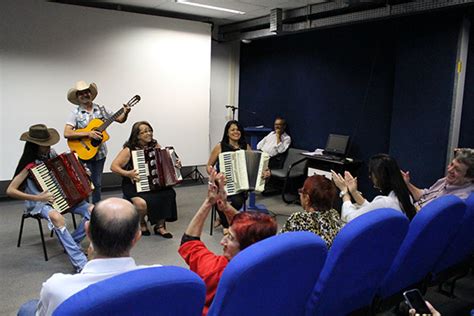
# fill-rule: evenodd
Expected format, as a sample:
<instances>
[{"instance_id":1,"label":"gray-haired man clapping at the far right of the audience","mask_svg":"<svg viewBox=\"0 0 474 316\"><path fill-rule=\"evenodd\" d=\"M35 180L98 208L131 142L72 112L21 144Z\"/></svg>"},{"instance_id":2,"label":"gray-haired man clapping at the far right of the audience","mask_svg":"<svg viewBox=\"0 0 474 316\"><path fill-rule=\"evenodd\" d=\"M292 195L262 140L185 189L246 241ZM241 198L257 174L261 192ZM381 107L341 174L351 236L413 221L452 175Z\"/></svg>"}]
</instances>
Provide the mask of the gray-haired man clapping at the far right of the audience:
<instances>
[{"instance_id":1,"label":"gray-haired man clapping at the far right of the audience","mask_svg":"<svg viewBox=\"0 0 474 316\"><path fill-rule=\"evenodd\" d=\"M403 172L403 179L415 200L421 208L443 195L453 194L466 199L474 192L474 149L457 148L454 159L448 165L446 177L439 179L429 189L419 189L410 182L410 173Z\"/></svg>"}]
</instances>

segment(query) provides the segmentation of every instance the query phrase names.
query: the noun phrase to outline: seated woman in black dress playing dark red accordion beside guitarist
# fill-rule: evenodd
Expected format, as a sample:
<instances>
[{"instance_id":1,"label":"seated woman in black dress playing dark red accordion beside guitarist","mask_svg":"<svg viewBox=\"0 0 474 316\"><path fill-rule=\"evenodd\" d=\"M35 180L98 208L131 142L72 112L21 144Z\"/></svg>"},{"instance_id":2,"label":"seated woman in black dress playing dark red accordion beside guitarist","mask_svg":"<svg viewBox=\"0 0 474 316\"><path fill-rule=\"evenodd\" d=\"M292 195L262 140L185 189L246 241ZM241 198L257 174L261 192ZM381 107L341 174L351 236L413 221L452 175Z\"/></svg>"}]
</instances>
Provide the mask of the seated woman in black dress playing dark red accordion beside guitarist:
<instances>
[{"instance_id":1,"label":"seated woman in black dress playing dark red accordion beside guitarist","mask_svg":"<svg viewBox=\"0 0 474 316\"><path fill-rule=\"evenodd\" d=\"M160 144L153 138L153 128L146 121L136 122L132 126L130 138L123 145L123 149L115 157L110 169L122 176L122 191L125 198L132 201L140 214L142 235L148 236L145 216L156 235L172 238L166 230L165 222L177 220L176 192L172 187L160 190L137 193L135 181L139 180L138 171L133 168L132 150L145 148L160 148Z\"/></svg>"}]
</instances>

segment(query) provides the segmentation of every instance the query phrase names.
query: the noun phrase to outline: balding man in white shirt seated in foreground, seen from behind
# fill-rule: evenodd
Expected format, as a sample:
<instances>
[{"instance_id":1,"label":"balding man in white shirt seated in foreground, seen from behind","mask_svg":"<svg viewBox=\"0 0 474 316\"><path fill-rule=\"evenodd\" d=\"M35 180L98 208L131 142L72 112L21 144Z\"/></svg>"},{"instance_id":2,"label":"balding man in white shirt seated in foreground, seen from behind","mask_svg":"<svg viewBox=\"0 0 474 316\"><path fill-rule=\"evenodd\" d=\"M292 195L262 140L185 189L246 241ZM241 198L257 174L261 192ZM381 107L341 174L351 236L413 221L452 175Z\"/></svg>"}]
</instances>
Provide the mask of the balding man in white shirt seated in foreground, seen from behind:
<instances>
[{"instance_id":1,"label":"balding man in white shirt seated in foreground, seen from behind","mask_svg":"<svg viewBox=\"0 0 474 316\"><path fill-rule=\"evenodd\" d=\"M137 266L130 251L140 240L140 220L135 207L124 199L109 198L96 204L86 233L91 241L89 261L81 273L56 273L43 283L40 299L25 303L19 315L51 315L66 299L90 284L126 271L144 268Z\"/></svg>"}]
</instances>

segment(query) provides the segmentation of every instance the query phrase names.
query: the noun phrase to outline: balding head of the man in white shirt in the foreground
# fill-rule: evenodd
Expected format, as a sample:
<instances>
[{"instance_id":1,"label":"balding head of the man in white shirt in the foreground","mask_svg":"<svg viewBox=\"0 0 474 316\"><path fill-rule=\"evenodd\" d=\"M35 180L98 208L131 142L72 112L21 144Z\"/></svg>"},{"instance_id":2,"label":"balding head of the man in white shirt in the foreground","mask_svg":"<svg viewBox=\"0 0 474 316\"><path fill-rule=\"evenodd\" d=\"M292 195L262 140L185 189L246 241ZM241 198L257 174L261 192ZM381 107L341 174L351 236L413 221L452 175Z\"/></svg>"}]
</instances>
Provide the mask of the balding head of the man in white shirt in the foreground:
<instances>
[{"instance_id":1,"label":"balding head of the man in white shirt in the foreground","mask_svg":"<svg viewBox=\"0 0 474 316\"><path fill-rule=\"evenodd\" d=\"M109 198L96 204L88 229L94 250L102 257L128 256L139 230L135 207L119 198Z\"/></svg>"}]
</instances>

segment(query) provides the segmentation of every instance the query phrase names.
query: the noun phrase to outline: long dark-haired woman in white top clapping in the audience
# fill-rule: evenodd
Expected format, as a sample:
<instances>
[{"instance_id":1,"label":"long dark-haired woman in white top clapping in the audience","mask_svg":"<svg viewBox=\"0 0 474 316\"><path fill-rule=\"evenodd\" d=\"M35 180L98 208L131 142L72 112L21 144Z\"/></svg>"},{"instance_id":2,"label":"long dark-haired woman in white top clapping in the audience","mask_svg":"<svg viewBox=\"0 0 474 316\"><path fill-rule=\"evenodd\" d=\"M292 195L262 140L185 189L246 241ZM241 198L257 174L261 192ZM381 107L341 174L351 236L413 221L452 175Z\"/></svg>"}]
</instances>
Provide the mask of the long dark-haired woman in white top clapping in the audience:
<instances>
[{"instance_id":1,"label":"long dark-haired woman in white top clapping in the audience","mask_svg":"<svg viewBox=\"0 0 474 316\"><path fill-rule=\"evenodd\" d=\"M415 216L415 207L395 159L386 154L372 156L369 161L369 177L374 187L382 193L372 202L368 202L357 191L357 178L352 177L347 171L344 177L332 172L334 184L341 190L340 196L344 202L341 210L341 219L344 222L350 222L362 214L386 207L405 213L410 220ZM352 203L351 197L355 203Z\"/></svg>"}]
</instances>

